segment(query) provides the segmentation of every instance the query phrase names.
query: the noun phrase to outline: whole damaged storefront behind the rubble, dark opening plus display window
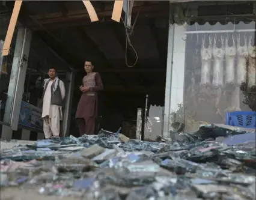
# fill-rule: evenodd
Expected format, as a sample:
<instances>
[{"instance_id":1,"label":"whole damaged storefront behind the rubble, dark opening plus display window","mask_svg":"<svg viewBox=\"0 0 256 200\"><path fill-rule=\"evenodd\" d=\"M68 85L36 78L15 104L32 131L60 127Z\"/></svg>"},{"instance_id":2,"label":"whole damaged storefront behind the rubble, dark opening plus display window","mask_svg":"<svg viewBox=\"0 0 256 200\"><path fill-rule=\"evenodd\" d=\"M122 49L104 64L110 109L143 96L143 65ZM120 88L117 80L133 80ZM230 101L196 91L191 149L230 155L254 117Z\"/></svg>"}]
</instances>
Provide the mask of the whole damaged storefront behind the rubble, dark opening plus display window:
<instances>
[{"instance_id":1,"label":"whole damaged storefront behind the rubble, dark opening plus display window","mask_svg":"<svg viewBox=\"0 0 256 200\"><path fill-rule=\"evenodd\" d=\"M77 132L74 120L80 96L77 85L87 58L96 61L96 70L105 85L99 98L98 130L103 127L115 131L121 126L130 138L142 135L142 139L155 139L157 135L169 136L169 131L178 127L194 132L201 124L227 124L227 112L255 111L254 2L137 2L133 5L131 30L125 29L122 21L111 22L112 4L101 4L108 12L99 11L100 22L94 23L88 16L79 22L85 17L81 13L86 11L79 10L78 2L65 2L66 8L74 7L67 16L59 11L57 2L40 2L41 9L47 10L49 4L52 10L48 14L34 11L28 17L24 13L32 9L32 4L37 3L23 5L19 18L22 23L26 21L23 33L32 34L32 41L26 39L29 42L25 44L35 49L29 50L27 69L20 68L26 72L25 85L17 82L21 81L17 78L4 80L16 76L10 76L11 71L4 72L5 58L2 64L1 81L5 82L1 82L2 88L16 80L16 85L24 85L23 90L8 84L2 89L1 121L11 125L12 130L17 130L19 124L19 119L13 116L19 115L20 99L29 103L29 89L37 90L40 81L47 77L47 65L56 65L61 79L73 87L70 94L74 98L65 111L70 117L63 125L66 127L63 135ZM100 8L94 6L96 10ZM17 29L24 27L22 23L14 31L13 52ZM7 25L1 31L7 31ZM36 46L43 47L38 50ZM46 58L38 59L41 55ZM7 60L13 67L13 58ZM7 112L3 105L8 88L11 90ZM23 91L19 101L14 91ZM39 98L40 95L34 106L38 106Z\"/></svg>"}]
</instances>

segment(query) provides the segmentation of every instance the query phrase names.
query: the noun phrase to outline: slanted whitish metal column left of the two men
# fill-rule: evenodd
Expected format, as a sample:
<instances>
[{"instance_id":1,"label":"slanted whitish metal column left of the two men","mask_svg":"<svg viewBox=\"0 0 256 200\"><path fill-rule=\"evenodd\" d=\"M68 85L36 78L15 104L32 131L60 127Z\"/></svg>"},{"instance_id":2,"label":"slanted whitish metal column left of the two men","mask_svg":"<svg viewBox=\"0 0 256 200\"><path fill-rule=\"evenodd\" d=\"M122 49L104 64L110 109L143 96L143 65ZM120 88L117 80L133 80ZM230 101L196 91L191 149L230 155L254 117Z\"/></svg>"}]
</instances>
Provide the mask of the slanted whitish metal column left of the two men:
<instances>
[{"instance_id":1,"label":"slanted whitish metal column left of the two men","mask_svg":"<svg viewBox=\"0 0 256 200\"><path fill-rule=\"evenodd\" d=\"M10 124L13 130L17 130L18 127L31 37L32 33L29 29L18 29L4 114L4 122Z\"/></svg>"}]
</instances>

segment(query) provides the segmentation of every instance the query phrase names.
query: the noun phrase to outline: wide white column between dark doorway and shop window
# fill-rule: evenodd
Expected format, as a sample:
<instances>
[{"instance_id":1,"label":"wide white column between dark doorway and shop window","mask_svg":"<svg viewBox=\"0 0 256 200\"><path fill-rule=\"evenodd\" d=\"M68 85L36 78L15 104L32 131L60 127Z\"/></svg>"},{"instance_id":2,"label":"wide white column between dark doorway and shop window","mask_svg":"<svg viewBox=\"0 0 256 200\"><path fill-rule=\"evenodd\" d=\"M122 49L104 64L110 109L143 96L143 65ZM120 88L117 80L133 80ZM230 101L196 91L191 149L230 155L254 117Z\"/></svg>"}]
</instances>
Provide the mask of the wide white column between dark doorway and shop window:
<instances>
[{"instance_id":1,"label":"wide white column between dark doorway and shop window","mask_svg":"<svg viewBox=\"0 0 256 200\"><path fill-rule=\"evenodd\" d=\"M170 114L178 109L178 104L183 103L184 67L186 27L183 25L170 25L168 38L168 57L165 86L165 124L163 136L169 137ZM179 121L183 123L183 121Z\"/></svg>"}]
</instances>

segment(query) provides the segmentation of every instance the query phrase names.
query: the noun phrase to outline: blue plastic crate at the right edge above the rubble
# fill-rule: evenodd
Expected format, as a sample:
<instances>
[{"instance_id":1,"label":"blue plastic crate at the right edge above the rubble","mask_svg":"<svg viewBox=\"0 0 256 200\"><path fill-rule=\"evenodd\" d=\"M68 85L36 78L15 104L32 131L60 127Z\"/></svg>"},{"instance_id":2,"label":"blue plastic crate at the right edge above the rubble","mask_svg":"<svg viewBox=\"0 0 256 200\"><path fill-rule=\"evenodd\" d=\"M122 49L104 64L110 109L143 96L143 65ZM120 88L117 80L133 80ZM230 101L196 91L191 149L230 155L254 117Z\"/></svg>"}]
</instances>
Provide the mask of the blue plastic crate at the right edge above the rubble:
<instances>
[{"instance_id":1,"label":"blue plastic crate at the right edge above the rubble","mask_svg":"<svg viewBox=\"0 0 256 200\"><path fill-rule=\"evenodd\" d=\"M226 124L243 128L256 128L256 112L234 111L226 113Z\"/></svg>"}]
</instances>

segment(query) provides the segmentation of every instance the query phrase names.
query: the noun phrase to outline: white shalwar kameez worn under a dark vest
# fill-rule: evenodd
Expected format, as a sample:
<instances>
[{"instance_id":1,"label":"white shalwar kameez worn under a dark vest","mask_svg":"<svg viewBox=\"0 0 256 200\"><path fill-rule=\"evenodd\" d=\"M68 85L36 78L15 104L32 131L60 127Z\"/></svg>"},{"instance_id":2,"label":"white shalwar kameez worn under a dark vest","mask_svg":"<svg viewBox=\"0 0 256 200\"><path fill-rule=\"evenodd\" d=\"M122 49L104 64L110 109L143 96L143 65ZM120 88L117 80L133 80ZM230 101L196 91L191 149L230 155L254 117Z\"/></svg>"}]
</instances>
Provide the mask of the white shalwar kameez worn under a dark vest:
<instances>
[{"instance_id":1,"label":"white shalwar kameez worn under a dark vest","mask_svg":"<svg viewBox=\"0 0 256 200\"><path fill-rule=\"evenodd\" d=\"M52 97L51 86L54 80L50 80L43 97L43 132L44 137L49 139L52 136L59 136L59 123L62 121L62 106L51 105L50 98ZM65 97L64 83L59 81L59 89L61 90L62 100Z\"/></svg>"}]
</instances>

